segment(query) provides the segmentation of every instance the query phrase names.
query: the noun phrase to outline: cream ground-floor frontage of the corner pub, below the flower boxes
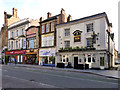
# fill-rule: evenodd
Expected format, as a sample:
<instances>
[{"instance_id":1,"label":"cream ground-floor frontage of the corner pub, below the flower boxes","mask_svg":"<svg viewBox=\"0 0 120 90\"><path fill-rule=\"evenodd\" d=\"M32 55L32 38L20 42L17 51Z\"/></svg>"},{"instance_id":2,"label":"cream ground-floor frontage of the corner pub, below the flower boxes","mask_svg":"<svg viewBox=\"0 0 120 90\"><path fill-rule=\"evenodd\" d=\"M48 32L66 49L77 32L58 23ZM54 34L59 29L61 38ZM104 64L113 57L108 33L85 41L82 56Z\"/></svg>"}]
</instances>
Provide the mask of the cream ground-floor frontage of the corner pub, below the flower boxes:
<instances>
[{"instance_id":1,"label":"cream ground-floor frontage of the corner pub, below the flower boxes","mask_svg":"<svg viewBox=\"0 0 120 90\"><path fill-rule=\"evenodd\" d=\"M74 51L58 52L56 55L56 65L64 63L65 67L71 63L75 69L105 69L108 68L108 57L106 51Z\"/></svg>"}]
</instances>

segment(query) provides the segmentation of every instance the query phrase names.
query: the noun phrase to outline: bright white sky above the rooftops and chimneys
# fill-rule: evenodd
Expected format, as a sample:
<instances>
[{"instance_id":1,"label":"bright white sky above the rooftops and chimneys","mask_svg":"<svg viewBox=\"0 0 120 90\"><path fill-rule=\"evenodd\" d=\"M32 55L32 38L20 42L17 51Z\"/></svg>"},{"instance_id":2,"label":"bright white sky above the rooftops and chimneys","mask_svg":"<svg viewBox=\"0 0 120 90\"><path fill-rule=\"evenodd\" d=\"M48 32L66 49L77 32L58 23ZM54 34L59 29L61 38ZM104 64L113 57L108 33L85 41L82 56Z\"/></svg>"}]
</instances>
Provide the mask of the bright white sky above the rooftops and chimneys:
<instances>
[{"instance_id":1,"label":"bright white sky above the rooftops and chimneys","mask_svg":"<svg viewBox=\"0 0 120 90\"><path fill-rule=\"evenodd\" d=\"M52 15L60 13L64 8L67 16L72 19L106 12L109 21L113 24L115 34L115 48L118 50L118 2L120 0L0 0L0 28L4 24L4 11L12 14L12 8L17 8L20 19L47 18L47 12Z\"/></svg>"}]
</instances>

